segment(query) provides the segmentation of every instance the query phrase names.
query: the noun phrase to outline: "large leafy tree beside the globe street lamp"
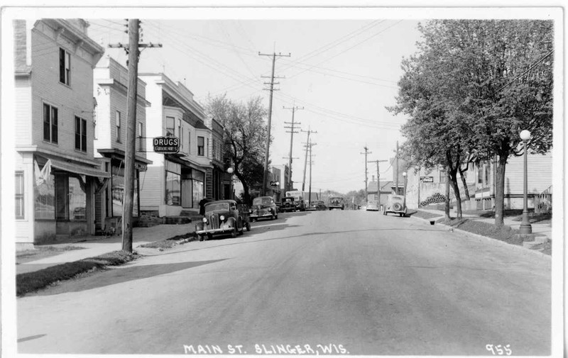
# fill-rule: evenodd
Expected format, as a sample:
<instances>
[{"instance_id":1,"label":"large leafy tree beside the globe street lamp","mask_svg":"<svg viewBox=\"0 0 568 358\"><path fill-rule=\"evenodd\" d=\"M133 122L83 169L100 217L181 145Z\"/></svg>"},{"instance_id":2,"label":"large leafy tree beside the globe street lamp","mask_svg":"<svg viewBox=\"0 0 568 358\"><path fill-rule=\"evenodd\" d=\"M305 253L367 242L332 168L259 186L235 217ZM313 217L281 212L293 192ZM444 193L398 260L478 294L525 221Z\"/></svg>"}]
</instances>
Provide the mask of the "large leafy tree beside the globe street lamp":
<instances>
[{"instance_id":1,"label":"large leafy tree beside the globe street lamp","mask_svg":"<svg viewBox=\"0 0 568 358\"><path fill-rule=\"evenodd\" d=\"M420 53L410 59L410 68L432 72L417 70L410 77L406 71L403 76L420 78L430 91L414 86L407 97L399 96L399 106L404 99L411 118L422 114L420 104L443 108L451 124L444 130L455 126L452 135L461 133L460 150L454 154L473 155L477 161L496 158L496 225L503 225L507 160L523 154L520 131L532 133L532 152L552 147L552 25L530 20L429 21L420 27ZM413 101L417 112L408 111ZM444 138L449 133L444 132ZM413 150L425 160L419 149Z\"/></svg>"}]
</instances>

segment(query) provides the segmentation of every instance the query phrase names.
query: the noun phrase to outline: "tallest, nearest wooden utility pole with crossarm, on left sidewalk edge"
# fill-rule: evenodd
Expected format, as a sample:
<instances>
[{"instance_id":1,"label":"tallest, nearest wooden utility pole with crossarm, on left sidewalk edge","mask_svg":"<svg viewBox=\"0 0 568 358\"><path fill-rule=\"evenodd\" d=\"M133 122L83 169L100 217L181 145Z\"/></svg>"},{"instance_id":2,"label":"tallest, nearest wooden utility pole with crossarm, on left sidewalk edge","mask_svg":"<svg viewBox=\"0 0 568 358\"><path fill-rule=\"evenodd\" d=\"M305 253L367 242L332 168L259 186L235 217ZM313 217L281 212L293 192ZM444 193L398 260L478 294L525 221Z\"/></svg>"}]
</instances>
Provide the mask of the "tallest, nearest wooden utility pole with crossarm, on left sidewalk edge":
<instances>
[{"instance_id":1,"label":"tallest, nearest wooden utility pole with crossarm, on left sidewalk edge","mask_svg":"<svg viewBox=\"0 0 568 358\"><path fill-rule=\"evenodd\" d=\"M129 86L126 92L126 147L124 151L124 202L122 205L122 250L132 252L132 209L134 204L134 154L136 153L136 97L138 96L138 59L140 47L162 47L161 44L139 43L140 23L137 18L129 20L129 45L109 44L109 47L124 47L129 55Z\"/></svg>"}]
</instances>

